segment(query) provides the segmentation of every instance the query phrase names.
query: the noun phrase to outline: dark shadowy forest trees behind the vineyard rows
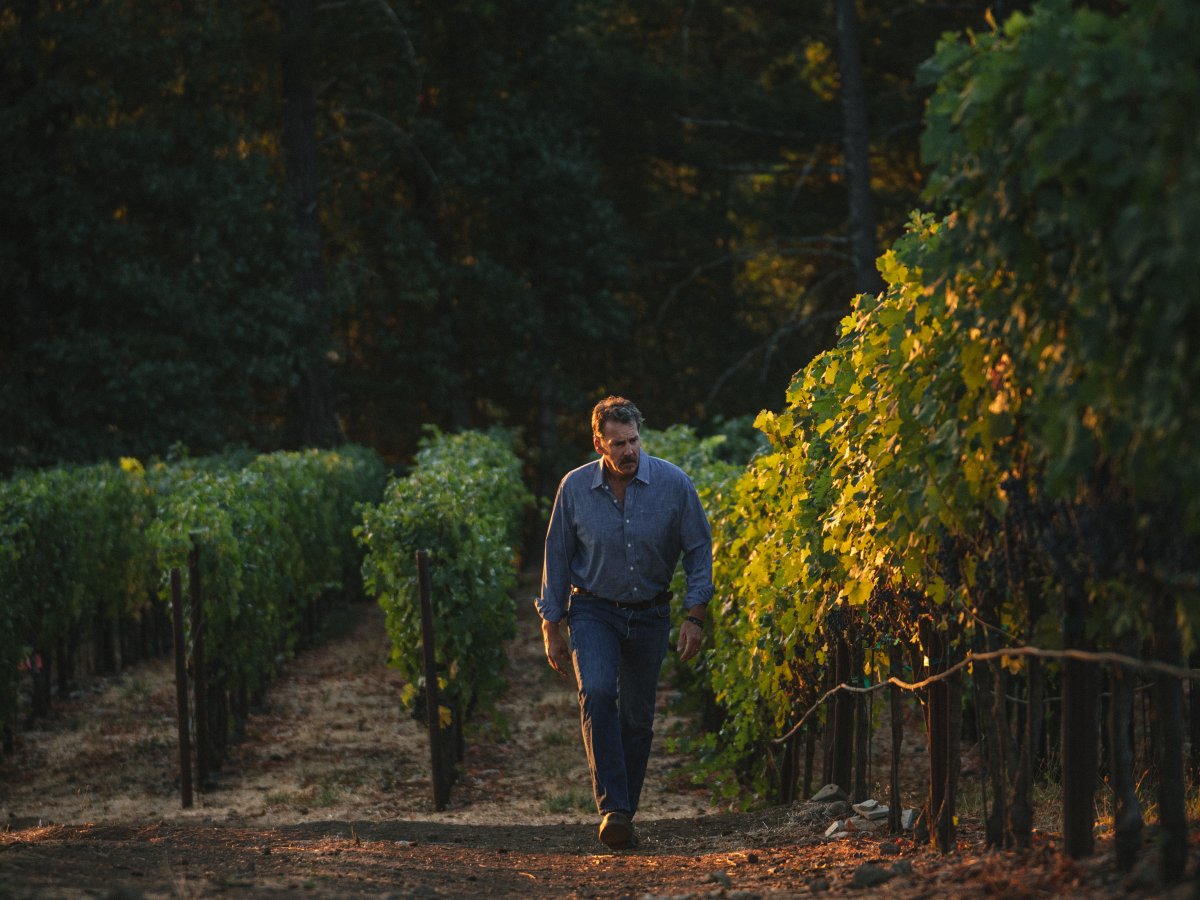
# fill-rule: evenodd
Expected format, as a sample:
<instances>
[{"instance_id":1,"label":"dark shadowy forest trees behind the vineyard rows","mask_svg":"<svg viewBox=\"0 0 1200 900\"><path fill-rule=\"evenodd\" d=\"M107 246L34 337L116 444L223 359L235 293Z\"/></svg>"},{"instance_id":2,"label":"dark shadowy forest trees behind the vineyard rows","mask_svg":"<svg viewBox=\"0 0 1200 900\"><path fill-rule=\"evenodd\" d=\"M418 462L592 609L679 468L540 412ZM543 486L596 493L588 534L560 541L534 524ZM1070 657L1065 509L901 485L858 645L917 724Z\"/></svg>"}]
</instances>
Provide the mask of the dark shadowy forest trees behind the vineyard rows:
<instances>
[{"instance_id":1,"label":"dark shadowy forest trees behind the vineyard rows","mask_svg":"<svg viewBox=\"0 0 1200 900\"><path fill-rule=\"evenodd\" d=\"M917 66L986 28L852 6L0 7L0 467L504 424L545 490L604 392L775 406L917 203Z\"/></svg>"}]
</instances>

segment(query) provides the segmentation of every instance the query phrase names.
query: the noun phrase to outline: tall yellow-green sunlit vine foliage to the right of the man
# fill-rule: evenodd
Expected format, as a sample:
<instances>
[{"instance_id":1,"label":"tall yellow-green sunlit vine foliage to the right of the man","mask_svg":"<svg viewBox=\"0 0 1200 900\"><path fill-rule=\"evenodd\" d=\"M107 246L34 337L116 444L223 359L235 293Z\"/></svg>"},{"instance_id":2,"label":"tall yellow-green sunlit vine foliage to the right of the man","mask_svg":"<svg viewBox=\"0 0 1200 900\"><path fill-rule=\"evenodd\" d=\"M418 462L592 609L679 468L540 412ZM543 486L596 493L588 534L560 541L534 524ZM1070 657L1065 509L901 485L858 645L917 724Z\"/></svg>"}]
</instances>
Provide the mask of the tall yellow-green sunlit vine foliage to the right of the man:
<instances>
[{"instance_id":1,"label":"tall yellow-green sunlit vine foliage to the right of the man","mask_svg":"<svg viewBox=\"0 0 1200 900\"><path fill-rule=\"evenodd\" d=\"M1188 4L1109 17L1055 0L947 40L926 66L941 209L913 217L880 259L887 290L858 298L836 348L758 416L772 454L719 522L730 635L713 659L737 660L752 685L713 670L734 758L788 715L803 688L788 661L822 658L822 613L862 610L881 584L968 630L979 592L1000 592L1012 640L1060 641L1052 617L1020 635L1026 574L997 577L1015 539L998 527L1006 479L1070 508L1115 478L1182 510L1154 527L1200 529L1200 292L1184 262L1200 246L1200 145L1183 112L1200 102L1200 59L1177 52L1200 40L1184 35L1200 38ZM954 577L935 562L947 547ZM1104 623L1144 601L1139 578L1087 583ZM1039 589L1052 602L1067 588Z\"/></svg>"}]
</instances>

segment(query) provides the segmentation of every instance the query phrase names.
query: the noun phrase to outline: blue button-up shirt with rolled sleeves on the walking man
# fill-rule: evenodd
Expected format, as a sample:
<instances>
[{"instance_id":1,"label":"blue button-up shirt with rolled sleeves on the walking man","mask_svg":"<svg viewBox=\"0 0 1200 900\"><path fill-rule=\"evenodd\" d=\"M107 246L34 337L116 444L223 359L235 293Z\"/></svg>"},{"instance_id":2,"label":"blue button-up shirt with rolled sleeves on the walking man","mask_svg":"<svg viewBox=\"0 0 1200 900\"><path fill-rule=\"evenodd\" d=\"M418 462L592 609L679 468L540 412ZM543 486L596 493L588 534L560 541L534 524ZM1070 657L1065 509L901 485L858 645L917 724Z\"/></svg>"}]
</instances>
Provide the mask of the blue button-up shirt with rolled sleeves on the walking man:
<instances>
[{"instance_id":1,"label":"blue button-up shirt with rolled sleeves on the walking man","mask_svg":"<svg viewBox=\"0 0 1200 900\"><path fill-rule=\"evenodd\" d=\"M684 607L713 596L713 535L700 496L674 463L640 455L624 510L604 480L604 460L566 473L546 530L538 612L566 613L571 586L608 600L640 602L666 590L683 556Z\"/></svg>"}]
</instances>

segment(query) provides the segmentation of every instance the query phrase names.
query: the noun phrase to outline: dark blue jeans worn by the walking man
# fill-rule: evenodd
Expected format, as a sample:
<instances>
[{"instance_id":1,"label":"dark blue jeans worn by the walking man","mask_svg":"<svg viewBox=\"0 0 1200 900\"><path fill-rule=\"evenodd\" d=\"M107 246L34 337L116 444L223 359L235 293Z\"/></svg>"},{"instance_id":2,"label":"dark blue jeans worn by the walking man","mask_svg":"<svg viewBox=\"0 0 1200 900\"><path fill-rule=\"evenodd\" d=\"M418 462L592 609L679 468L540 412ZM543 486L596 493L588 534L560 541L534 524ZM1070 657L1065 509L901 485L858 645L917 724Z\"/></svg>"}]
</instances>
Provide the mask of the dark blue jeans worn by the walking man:
<instances>
[{"instance_id":1,"label":"dark blue jeans worn by the walking man","mask_svg":"<svg viewBox=\"0 0 1200 900\"><path fill-rule=\"evenodd\" d=\"M671 606L619 610L606 600L572 596L566 622L596 810L632 816L650 758Z\"/></svg>"}]
</instances>

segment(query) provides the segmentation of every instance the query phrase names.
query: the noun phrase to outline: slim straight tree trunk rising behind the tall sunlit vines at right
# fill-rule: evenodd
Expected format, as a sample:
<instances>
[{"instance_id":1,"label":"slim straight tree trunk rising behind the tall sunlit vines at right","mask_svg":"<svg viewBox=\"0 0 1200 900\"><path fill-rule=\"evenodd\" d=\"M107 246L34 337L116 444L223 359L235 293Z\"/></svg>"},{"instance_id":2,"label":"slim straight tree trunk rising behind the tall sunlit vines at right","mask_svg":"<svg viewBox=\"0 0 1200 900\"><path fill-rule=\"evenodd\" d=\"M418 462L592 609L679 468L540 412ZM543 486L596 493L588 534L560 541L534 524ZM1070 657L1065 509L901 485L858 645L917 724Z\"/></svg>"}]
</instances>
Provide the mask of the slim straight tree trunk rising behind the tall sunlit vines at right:
<instances>
[{"instance_id":1,"label":"slim straight tree trunk rising behind the tall sunlit vines at right","mask_svg":"<svg viewBox=\"0 0 1200 900\"><path fill-rule=\"evenodd\" d=\"M871 197L870 142L866 132L866 92L858 42L854 0L838 0L838 70L845 126L846 181L850 190L850 238L854 256L854 289L875 294L883 278L875 268L875 203Z\"/></svg>"}]
</instances>

